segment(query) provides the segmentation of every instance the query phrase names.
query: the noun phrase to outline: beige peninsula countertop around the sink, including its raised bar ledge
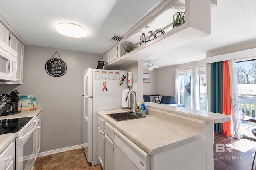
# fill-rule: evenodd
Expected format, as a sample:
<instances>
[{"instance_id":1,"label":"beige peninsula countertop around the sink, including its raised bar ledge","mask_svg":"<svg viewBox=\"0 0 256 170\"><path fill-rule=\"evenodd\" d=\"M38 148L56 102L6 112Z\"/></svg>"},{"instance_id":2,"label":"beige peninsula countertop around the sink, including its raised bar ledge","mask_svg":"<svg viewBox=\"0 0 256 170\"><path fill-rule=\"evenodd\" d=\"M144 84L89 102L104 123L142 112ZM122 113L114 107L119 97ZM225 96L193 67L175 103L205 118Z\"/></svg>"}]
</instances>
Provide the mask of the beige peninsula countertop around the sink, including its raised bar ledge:
<instances>
[{"instance_id":1,"label":"beige peninsula countertop around the sink, including its raised bar ledge","mask_svg":"<svg viewBox=\"0 0 256 170\"><path fill-rule=\"evenodd\" d=\"M230 116L162 104L146 103L148 115L142 119L115 121L107 114L127 112L122 109L99 111L98 115L150 155L205 137L204 124L222 123Z\"/></svg>"}]
</instances>

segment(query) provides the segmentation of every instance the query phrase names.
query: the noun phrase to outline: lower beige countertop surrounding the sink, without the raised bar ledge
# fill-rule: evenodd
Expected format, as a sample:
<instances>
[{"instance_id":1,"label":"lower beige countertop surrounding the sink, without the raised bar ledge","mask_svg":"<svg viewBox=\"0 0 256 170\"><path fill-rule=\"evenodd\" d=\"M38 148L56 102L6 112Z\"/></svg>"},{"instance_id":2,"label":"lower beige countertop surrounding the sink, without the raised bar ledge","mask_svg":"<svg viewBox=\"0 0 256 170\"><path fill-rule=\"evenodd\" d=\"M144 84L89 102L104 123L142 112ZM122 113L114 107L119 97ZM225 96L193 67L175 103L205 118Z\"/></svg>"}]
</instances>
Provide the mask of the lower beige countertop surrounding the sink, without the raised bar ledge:
<instances>
[{"instance_id":1,"label":"lower beige countertop surrounding the sink, without the raised bar ledge","mask_svg":"<svg viewBox=\"0 0 256 170\"><path fill-rule=\"evenodd\" d=\"M186 127L153 115L118 122L106 115L121 112L127 111L122 109L99 111L98 115L150 155L170 150L204 136L204 121L200 120L171 115L172 118L176 120L182 118L184 122L191 125ZM196 129L192 129L193 126Z\"/></svg>"}]
</instances>

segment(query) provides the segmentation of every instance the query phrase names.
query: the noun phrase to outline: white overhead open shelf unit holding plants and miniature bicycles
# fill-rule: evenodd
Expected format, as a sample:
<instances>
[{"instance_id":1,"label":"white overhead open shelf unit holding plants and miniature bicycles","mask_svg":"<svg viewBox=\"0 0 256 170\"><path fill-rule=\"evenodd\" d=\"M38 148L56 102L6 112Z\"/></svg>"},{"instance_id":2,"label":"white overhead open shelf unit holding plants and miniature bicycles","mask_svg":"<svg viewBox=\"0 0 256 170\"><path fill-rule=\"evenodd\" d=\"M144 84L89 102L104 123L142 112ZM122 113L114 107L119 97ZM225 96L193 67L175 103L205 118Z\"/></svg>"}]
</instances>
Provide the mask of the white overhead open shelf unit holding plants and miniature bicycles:
<instances>
[{"instance_id":1,"label":"white overhead open shelf unit holding plants and miniature bicycles","mask_svg":"<svg viewBox=\"0 0 256 170\"><path fill-rule=\"evenodd\" d=\"M152 55L190 43L211 33L211 4L216 0L166 0L153 10L140 23L135 25L117 44L112 45L104 54L114 47L119 49L132 43L135 49L127 54L119 51L115 60L108 60L105 68L117 68L126 64L146 59ZM177 12L184 12L182 25L174 27L173 18ZM174 16L174 17L173 17ZM150 33L152 31L152 34ZM164 31L164 33L160 33ZM158 32L158 33L157 33ZM142 35L144 33L144 36ZM143 41L146 43L142 43ZM140 45L142 43L142 45ZM124 46L124 47L123 47Z\"/></svg>"}]
</instances>

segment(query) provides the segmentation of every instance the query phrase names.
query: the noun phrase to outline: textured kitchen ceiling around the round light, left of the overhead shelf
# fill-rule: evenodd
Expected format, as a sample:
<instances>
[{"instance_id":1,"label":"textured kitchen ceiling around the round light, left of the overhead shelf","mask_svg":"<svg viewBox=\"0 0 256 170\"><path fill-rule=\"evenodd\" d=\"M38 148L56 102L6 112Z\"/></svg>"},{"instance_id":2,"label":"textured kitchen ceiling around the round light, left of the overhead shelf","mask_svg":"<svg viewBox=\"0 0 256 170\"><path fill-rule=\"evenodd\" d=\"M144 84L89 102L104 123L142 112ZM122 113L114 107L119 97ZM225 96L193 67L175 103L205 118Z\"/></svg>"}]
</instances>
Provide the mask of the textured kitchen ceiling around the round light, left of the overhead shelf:
<instances>
[{"instance_id":1,"label":"textured kitchen ceiling around the round light, left of the overhead shelf","mask_svg":"<svg viewBox=\"0 0 256 170\"><path fill-rule=\"evenodd\" d=\"M0 0L0 16L28 45L102 54L164 0ZM75 23L88 35L60 35L59 23Z\"/></svg>"}]
</instances>

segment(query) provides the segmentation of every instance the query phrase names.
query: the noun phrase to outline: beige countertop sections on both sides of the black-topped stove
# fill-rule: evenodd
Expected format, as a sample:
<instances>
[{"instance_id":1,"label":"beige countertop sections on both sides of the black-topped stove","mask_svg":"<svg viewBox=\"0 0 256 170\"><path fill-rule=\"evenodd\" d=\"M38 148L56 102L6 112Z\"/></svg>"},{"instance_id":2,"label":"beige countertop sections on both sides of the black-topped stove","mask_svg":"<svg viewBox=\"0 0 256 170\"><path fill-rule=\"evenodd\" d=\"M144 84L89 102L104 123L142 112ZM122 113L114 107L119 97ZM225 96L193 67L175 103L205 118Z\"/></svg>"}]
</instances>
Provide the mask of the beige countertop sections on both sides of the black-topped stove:
<instances>
[{"instance_id":1,"label":"beige countertop sections on both sides of the black-topped stove","mask_svg":"<svg viewBox=\"0 0 256 170\"><path fill-rule=\"evenodd\" d=\"M32 117L37 116L42 111L42 104L36 105L36 110L33 111L22 111L18 114L9 115L9 116L1 116L0 120L3 119L15 119L20 117ZM0 135L0 153L12 142L12 140L15 138L14 133L8 133Z\"/></svg>"}]
</instances>

